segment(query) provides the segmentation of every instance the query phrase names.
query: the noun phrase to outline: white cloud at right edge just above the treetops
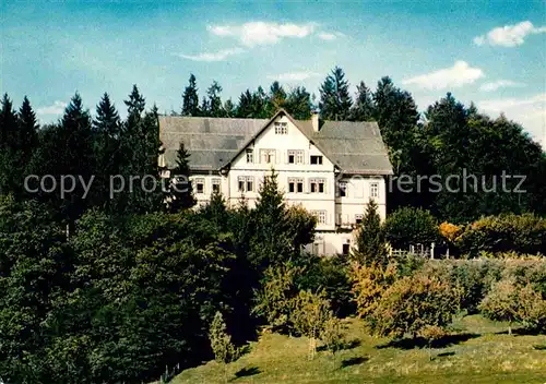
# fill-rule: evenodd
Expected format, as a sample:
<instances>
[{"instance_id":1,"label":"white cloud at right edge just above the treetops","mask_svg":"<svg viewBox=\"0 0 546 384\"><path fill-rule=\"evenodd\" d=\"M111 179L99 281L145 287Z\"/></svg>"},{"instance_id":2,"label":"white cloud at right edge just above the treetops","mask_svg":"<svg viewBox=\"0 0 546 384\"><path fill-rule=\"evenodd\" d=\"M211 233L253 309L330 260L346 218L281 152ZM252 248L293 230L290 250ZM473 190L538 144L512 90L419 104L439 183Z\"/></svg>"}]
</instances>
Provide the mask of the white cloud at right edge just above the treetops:
<instances>
[{"instance_id":1,"label":"white cloud at right edge just above the treetops","mask_svg":"<svg viewBox=\"0 0 546 384\"><path fill-rule=\"evenodd\" d=\"M536 141L546 141L546 93L526 98L482 100L476 104L479 109L489 113L503 112L508 119L521 123Z\"/></svg>"}]
</instances>

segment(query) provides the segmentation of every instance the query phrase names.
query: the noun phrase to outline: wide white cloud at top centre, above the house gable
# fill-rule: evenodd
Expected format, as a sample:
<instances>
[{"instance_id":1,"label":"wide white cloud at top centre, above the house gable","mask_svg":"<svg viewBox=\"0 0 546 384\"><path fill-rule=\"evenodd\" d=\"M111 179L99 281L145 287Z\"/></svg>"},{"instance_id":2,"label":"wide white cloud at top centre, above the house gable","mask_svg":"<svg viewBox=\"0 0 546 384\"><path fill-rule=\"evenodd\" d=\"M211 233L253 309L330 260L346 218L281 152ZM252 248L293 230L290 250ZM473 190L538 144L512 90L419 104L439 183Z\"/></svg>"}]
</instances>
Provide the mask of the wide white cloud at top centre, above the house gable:
<instances>
[{"instance_id":1,"label":"wide white cloud at top centre, above the house gable","mask_svg":"<svg viewBox=\"0 0 546 384\"><path fill-rule=\"evenodd\" d=\"M235 37L242 45L253 47L276 44L281 39L288 37L301 38L309 36L314 31L314 24L249 22L241 25L210 25L207 29L216 36Z\"/></svg>"}]
</instances>

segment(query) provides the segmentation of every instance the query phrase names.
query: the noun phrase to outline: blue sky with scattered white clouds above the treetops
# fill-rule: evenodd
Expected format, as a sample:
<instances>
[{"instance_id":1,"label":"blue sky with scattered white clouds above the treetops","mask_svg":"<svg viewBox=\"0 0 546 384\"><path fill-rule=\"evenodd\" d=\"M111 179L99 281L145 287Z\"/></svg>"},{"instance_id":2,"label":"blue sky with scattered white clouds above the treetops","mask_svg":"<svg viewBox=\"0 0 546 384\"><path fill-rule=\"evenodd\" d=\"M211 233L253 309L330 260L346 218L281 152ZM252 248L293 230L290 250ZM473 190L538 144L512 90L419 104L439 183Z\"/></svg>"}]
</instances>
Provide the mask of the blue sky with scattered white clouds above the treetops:
<instances>
[{"instance_id":1,"label":"blue sky with scattered white clouds above the treetops","mask_svg":"<svg viewBox=\"0 0 546 384\"><path fill-rule=\"evenodd\" d=\"M179 110L190 72L201 95L319 84L342 67L375 88L390 75L419 108L452 92L501 111L546 140L546 2L100 2L4 0L0 87L27 95L54 121L75 91L108 92L121 115L138 84L159 110Z\"/></svg>"}]
</instances>

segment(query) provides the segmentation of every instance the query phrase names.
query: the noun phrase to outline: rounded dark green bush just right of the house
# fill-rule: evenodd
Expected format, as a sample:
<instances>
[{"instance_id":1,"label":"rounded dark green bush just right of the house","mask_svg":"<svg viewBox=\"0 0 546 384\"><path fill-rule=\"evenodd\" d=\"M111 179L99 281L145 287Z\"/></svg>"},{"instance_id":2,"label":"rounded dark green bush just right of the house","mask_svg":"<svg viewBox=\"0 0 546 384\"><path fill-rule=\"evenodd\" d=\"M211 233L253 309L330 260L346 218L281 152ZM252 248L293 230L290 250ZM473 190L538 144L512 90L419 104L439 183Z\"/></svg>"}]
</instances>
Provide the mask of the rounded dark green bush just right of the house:
<instances>
[{"instance_id":1,"label":"rounded dark green bush just right of the house","mask_svg":"<svg viewBox=\"0 0 546 384\"><path fill-rule=\"evenodd\" d=\"M420 208L400 208L387 217L383 226L385 240L395 249L412 244L430 244L438 241L438 223L434 216Z\"/></svg>"}]
</instances>

